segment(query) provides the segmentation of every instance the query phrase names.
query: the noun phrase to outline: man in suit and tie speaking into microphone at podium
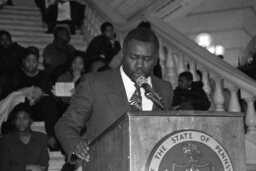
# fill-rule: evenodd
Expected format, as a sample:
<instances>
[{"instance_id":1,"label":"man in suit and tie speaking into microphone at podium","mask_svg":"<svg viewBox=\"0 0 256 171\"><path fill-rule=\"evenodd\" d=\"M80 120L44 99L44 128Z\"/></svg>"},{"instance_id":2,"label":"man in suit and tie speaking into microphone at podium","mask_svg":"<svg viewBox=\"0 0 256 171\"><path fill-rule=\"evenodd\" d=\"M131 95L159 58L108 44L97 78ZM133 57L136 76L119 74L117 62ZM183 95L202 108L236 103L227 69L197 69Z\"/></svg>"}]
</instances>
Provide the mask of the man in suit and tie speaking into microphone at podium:
<instances>
[{"instance_id":1,"label":"man in suit and tie speaking into microphone at podium","mask_svg":"<svg viewBox=\"0 0 256 171\"><path fill-rule=\"evenodd\" d=\"M171 108L171 84L152 75L158 53L159 42L153 31L136 28L124 40L121 67L82 78L55 127L69 158L89 161L89 142L128 111ZM81 136L85 127L87 131Z\"/></svg>"}]
</instances>

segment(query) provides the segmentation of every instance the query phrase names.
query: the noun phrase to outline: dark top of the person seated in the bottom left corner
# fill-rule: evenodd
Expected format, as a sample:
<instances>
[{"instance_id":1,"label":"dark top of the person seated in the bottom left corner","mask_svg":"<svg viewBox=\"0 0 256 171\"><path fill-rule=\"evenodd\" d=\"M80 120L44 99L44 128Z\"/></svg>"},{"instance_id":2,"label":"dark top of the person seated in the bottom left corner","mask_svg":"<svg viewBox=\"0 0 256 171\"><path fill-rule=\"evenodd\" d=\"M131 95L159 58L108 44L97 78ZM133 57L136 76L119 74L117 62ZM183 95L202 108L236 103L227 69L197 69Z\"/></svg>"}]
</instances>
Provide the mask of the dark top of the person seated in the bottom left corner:
<instances>
[{"instance_id":1,"label":"dark top of the person seated in the bottom left corner","mask_svg":"<svg viewBox=\"0 0 256 171\"><path fill-rule=\"evenodd\" d=\"M18 133L5 135L0 142L0 170L25 171L28 164L48 168L49 154L46 135L32 131L28 144L20 141Z\"/></svg>"}]
</instances>

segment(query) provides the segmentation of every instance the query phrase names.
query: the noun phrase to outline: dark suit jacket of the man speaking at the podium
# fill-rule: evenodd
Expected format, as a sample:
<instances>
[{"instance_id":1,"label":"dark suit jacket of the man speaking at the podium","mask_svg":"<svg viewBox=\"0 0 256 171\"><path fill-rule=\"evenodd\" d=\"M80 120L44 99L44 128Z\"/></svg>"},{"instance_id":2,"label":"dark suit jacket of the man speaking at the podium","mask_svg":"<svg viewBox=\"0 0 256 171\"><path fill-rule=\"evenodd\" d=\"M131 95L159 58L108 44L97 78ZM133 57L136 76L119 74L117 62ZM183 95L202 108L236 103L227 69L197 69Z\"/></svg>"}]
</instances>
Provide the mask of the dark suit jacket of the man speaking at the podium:
<instances>
[{"instance_id":1,"label":"dark suit jacket of the man speaking at the podium","mask_svg":"<svg viewBox=\"0 0 256 171\"><path fill-rule=\"evenodd\" d=\"M166 110L171 108L173 90L169 82L152 78L153 89L164 99ZM153 106L153 110L160 110ZM56 136L65 152L71 154L80 141L85 126L88 141L92 141L121 115L130 111L120 68L92 73L83 77L71 99L68 110L56 124ZM92 134L93 133L93 134Z\"/></svg>"}]
</instances>

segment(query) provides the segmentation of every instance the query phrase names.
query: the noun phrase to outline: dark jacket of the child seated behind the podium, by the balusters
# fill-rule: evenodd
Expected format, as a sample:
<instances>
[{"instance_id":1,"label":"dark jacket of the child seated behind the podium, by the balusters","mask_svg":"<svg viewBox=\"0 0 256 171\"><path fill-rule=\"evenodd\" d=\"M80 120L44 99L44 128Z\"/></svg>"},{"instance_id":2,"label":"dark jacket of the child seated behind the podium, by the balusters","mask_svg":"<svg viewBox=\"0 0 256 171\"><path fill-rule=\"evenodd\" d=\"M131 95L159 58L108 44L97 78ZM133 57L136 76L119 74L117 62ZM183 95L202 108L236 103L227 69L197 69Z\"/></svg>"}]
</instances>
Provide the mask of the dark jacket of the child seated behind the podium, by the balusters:
<instances>
[{"instance_id":1,"label":"dark jacket of the child seated behind the podium, by the balusters","mask_svg":"<svg viewBox=\"0 0 256 171\"><path fill-rule=\"evenodd\" d=\"M193 82L186 90L179 87L174 90L173 107L176 109L208 110L210 105L202 82Z\"/></svg>"}]
</instances>

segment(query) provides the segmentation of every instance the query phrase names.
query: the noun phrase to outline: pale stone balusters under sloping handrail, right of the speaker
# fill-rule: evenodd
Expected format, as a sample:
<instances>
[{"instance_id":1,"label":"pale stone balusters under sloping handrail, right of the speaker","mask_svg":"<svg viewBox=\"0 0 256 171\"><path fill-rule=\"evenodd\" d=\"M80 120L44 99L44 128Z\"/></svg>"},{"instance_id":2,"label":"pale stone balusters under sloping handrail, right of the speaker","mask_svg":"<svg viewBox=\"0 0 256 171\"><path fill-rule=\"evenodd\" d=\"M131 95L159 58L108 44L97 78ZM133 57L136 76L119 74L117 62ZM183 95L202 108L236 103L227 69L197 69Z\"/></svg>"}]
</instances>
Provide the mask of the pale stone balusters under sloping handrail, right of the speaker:
<instances>
[{"instance_id":1,"label":"pale stone balusters under sloping handrail, right of the speaker","mask_svg":"<svg viewBox=\"0 0 256 171\"><path fill-rule=\"evenodd\" d=\"M194 76L194 81L199 80L197 70L202 73L201 81L204 83L203 89L209 97L209 100L213 103L211 110L215 111L229 111L229 112L241 112L241 102L245 107L245 124L248 134L256 134L256 113L254 108L255 95L248 94L241 96L239 93L241 90L232 83L224 84L224 80L221 75L210 74L212 71L207 70L205 67L197 67L197 63L189 56L182 52L177 52L177 49L173 49L173 46L166 47L160 43L159 57L160 64L163 70L163 78L169 81L175 88L178 84L178 75L184 71L190 71ZM216 57L217 58L217 57ZM225 85L225 86L224 86ZM240 91L239 91L240 90ZM243 93L245 94L245 93ZM227 105L224 105L227 104Z\"/></svg>"}]
</instances>

